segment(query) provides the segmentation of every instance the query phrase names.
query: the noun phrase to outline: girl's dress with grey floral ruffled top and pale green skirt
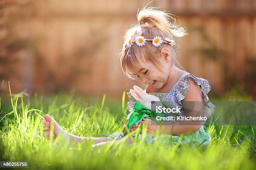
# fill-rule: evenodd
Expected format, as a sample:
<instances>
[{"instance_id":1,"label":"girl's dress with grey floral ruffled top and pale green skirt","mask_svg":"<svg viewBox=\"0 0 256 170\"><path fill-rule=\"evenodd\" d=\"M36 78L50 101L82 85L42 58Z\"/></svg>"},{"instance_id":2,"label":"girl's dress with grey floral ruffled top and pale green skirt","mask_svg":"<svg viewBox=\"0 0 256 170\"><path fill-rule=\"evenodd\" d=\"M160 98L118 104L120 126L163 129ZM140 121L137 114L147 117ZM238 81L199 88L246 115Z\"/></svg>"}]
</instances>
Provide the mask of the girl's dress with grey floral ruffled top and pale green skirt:
<instances>
[{"instance_id":1,"label":"girl's dress with grey floral ruffled top and pale green skirt","mask_svg":"<svg viewBox=\"0 0 256 170\"><path fill-rule=\"evenodd\" d=\"M191 73L183 74L179 80L174 84L171 91L169 93L149 93L151 95L157 96L161 101L165 100L166 103L175 104L179 107L182 107L182 100L186 97L187 91L189 89L189 77L194 79L195 82L200 85L202 89L203 99L204 99L204 116L209 118L215 109L215 106L210 102L207 94L209 93L211 86L210 81L195 77ZM127 93L127 96L130 101L128 101L128 110L130 113L133 112L133 107L136 102L136 99L133 98L131 93ZM185 116L184 112L178 113L180 116ZM166 123L173 123L175 120L166 120ZM205 121L203 121L203 124ZM168 145L169 143L177 144L179 142L181 145L197 145L197 146L206 146L211 141L211 137L208 132L202 127L196 132L192 132L183 136L174 136L169 134L146 134L145 137L142 134L138 135L138 139L143 139L147 144L154 144L155 141L161 142L164 145ZM135 137L135 134L132 135ZM124 135L122 132L115 132L111 134L109 137L113 137L115 140L121 140Z\"/></svg>"}]
</instances>

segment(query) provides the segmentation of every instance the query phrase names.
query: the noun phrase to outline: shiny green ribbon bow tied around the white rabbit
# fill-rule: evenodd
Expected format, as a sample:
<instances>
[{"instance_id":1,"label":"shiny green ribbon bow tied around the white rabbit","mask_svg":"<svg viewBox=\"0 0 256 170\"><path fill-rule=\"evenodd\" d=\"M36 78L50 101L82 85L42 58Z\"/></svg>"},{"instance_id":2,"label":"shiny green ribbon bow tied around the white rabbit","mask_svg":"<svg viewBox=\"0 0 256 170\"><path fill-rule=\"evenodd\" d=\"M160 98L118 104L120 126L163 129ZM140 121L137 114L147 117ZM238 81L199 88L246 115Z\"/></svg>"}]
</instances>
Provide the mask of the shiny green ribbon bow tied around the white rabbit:
<instances>
[{"instance_id":1,"label":"shiny green ribbon bow tied around the white rabbit","mask_svg":"<svg viewBox=\"0 0 256 170\"><path fill-rule=\"evenodd\" d=\"M164 117L163 113L156 113L154 111L151 111L150 109L147 109L138 100L136 100L136 102L134 104L133 111L134 112L131 114L131 116L128 120L128 123L125 127L124 133L127 132L131 126L133 126L134 124L136 124L143 118L148 118L148 119L154 120L155 122L157 122L159 124L159 123L161 123L161 120L157 120L156 117L157 116ZM145 114L147 114L148 116L145 116Z\"/></svg>"}]
</instances>

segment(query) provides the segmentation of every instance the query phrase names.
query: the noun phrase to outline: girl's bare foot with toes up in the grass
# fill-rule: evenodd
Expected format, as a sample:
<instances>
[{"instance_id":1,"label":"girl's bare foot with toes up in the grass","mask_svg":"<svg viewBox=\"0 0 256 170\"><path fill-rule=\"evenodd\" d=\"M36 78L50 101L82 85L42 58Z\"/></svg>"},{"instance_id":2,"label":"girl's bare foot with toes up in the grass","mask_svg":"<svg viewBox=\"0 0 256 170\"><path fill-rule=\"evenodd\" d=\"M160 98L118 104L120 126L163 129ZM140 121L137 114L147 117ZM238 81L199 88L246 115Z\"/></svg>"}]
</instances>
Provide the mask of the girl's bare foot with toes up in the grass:
<instances>
[{"instance_id":1,"label":"girl's bare foot with toes up in the grass","mask_svg":"<svg viewBox=\"0 0 256 170\"><path fill-rule=\"evenodd\" d=\"M64 129L62 129L59 124L52 118L49 114L46 114L44 116L43 122L44 122L44 135L49 139L50 138L50 128L51 128L51 122L53 122L54 125L54 139L59 134L67 134Z\"/></svg>"}]
</instances>

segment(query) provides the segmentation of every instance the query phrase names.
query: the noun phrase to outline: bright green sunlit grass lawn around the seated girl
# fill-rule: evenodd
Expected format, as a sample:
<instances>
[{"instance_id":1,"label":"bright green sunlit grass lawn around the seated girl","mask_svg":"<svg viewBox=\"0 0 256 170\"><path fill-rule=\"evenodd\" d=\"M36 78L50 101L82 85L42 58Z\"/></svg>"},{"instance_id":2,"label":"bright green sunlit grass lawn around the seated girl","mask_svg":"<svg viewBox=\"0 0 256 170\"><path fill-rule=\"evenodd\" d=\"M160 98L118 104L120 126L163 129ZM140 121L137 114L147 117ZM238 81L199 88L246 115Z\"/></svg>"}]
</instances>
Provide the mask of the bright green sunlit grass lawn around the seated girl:
<instances>
[{"instance_id":1,"label":"bright green sunlit grass lawn around the seated girl","mask_svg":"<svg viewBox=\"0 0 256 170\"><path fill-rule=\"evenodd\" d=\"M255 125L207 126L212 142L206 148L146 145L136 140L130 146L121 143L93 150L90 141L76 146L61 142L61 137L43 137L41 120L45 114L78 136L106 137L121 132L128 114L124 97L111 103L104 96L102 101L89 104L70 94L1 98L0 160L28 162L30 169L255 169Z\"/></svg>"}]
</instances>

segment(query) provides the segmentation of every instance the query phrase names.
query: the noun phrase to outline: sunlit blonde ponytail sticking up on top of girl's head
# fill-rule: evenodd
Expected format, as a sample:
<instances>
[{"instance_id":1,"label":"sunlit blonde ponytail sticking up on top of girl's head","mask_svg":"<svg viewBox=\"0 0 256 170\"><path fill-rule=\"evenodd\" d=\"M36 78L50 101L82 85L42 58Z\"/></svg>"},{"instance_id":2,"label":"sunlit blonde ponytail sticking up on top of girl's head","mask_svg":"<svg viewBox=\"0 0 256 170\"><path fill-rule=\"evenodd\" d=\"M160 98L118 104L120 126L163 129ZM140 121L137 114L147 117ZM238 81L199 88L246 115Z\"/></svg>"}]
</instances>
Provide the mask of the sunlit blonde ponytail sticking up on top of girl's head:
<instances>
[{"instance_id":1,"label":"sunlit blonde ponytail sticking up on top of girl's head","mask_svg":"<svg viewBox=\"0 0 256 170\"><path fill-rule=\"evenodd\" d=\"M176 19L171 14L157 9L156 7L143 7L137 14L139 24L147 27L156 26L168 31L175 37L182 37L187 34L184 28L175 25Z\"/></svg>"}]
</instances>

